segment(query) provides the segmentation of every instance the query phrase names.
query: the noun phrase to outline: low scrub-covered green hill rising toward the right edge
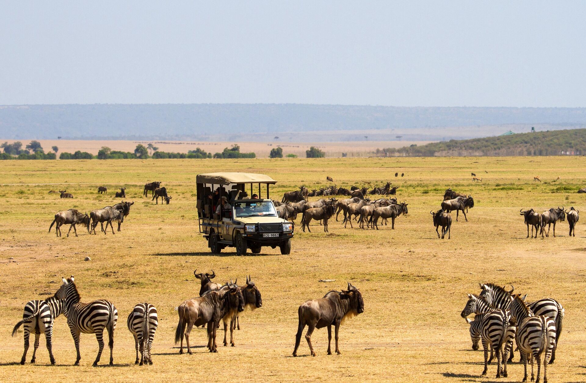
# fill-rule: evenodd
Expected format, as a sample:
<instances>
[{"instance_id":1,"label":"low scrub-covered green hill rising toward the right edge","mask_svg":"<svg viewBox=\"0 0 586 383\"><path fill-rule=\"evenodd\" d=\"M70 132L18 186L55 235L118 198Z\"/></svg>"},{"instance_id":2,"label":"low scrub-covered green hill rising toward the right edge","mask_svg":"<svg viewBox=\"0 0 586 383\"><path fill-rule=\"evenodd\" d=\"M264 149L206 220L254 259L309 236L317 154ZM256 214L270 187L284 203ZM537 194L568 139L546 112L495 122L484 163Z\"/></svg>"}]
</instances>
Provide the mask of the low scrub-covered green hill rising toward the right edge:
<instances>
[{"instance_id":1,"label":"low scrub-covered green hill rising toward the right edge","mask_svg":"<svg viewBox=\"0 0 586 383\"><path fill-rule=\"evenodd\" d=\"M519 133L377 149L377 156L584 156L586 129Z\"/></svg>"}]
</instances>

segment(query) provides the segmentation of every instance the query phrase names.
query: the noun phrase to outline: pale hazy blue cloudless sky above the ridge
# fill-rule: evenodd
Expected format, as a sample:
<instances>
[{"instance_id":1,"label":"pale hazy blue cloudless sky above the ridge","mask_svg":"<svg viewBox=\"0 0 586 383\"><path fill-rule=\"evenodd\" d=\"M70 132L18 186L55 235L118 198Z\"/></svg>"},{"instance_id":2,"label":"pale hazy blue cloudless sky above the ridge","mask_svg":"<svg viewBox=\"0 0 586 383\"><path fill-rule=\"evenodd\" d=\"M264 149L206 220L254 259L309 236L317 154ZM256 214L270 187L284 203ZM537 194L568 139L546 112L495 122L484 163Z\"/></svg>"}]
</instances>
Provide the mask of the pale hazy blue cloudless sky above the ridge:
<instances>
[{"instance_id":1,"label":"pale hazy blue cloudless sky above the ridge","mask_svg":"<svg viewBox=\"0 0 586 383\"><path fill-rule=\"evenodd\" d=\"M0 105L586 106L582 1L0 0Z\"/></svg>"}]
</instances>

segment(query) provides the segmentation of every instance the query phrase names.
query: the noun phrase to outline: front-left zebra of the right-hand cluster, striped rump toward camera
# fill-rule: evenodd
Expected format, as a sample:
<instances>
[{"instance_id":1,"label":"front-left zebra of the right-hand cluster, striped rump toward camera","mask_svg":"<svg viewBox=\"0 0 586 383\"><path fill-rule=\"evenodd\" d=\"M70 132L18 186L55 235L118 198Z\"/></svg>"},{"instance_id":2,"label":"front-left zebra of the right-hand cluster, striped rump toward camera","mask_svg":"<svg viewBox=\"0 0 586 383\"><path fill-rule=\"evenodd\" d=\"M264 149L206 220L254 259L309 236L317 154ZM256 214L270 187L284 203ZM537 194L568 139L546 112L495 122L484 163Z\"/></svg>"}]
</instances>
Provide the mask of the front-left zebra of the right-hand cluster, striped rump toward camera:
<instances>
[{"instance_id":1,"label":"front-left zebra of the right-hand cluster, striped rump toward camera","mask_svg":"<svg viewBox=\"0 0 586 383\"><path fill-rule=\"evenodd\" d=\"M474 320L466 318L466 322L470 325L470 337L472 338L472 350L478 350L478 341L482 339L482 348L484 349L484 371L482 375L486 375L488 369L488 350L492 356L492 350L496 353L496 377L500 378L507 376L507 362L503 356L503 344L506 347L507 324L509 322L509 315L505 310L490 310L489 312L476 314ZM492 359L492 357L491 357ZM503 367L501 367L501 359L503 359Z\"/></svg>"}]
</instances>

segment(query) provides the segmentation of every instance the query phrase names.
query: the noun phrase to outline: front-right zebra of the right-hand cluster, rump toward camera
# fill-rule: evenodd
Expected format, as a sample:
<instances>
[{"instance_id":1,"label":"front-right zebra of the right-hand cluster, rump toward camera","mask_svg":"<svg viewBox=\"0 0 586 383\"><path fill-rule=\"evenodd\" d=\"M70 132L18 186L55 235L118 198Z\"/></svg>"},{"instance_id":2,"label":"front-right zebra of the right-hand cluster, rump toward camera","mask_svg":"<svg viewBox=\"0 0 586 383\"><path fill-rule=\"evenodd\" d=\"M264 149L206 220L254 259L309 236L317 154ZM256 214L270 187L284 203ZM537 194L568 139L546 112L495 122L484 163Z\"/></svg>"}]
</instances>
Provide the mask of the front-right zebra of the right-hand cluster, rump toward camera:
<instances>
[{"instance_id":1,"label":"front-right zebra of the right-hand cluster, rump toward camera","mask_svg":"<svg viewBox=\"0 0 586 383\"><path fill-rule=\"evenodd\" d=\"M521 361L525 370L523 381L527 380L527 358L531 362L531 380L533 381L534 361L537 361L537 379L541 375L541 355L543 358L543 381L547 383L547 364L556 344L556 323L545 315L533 315L520 294L516 294L511 304L511 318L517 323L515 340L521 354Z\"/></svg>"}]
</instances>

